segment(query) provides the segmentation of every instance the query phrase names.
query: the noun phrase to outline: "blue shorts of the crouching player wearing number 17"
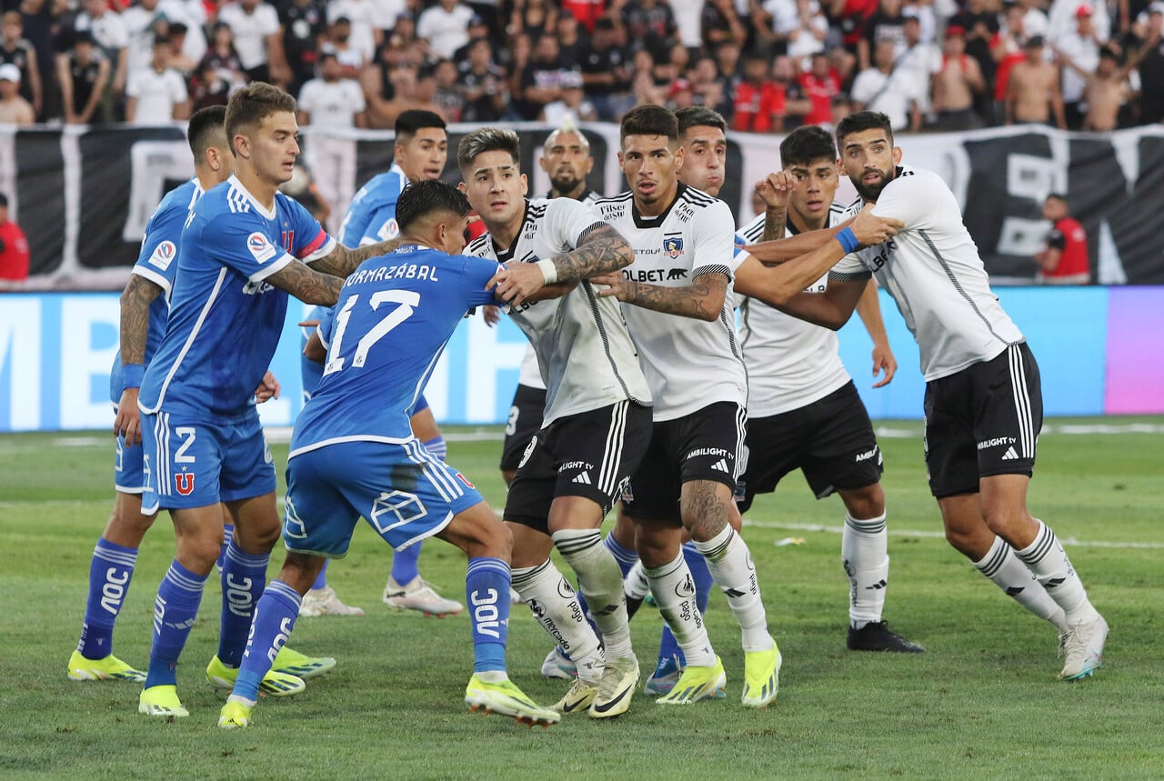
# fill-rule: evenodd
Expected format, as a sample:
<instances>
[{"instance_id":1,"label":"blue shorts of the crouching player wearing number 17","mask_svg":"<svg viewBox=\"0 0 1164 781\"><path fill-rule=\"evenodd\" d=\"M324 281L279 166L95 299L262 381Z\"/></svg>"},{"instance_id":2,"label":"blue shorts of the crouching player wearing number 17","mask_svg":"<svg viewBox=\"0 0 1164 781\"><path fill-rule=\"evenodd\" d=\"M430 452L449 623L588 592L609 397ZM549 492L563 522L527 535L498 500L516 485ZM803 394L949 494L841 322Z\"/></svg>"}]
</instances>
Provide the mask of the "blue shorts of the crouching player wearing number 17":
<instances>
[{"instance_id":1,"label":"blue shorts of the crouching player wearing number 17","mask_svg":"<svg viewBox=\"0 0 1164 781\"><path fill-rule=\"evenodd\" d=\"M481 502L473 483L419 440L336 442L288 461L283 542L296 553L340 559L364 518L400 551Z\"/></svg>"}]
</instances>

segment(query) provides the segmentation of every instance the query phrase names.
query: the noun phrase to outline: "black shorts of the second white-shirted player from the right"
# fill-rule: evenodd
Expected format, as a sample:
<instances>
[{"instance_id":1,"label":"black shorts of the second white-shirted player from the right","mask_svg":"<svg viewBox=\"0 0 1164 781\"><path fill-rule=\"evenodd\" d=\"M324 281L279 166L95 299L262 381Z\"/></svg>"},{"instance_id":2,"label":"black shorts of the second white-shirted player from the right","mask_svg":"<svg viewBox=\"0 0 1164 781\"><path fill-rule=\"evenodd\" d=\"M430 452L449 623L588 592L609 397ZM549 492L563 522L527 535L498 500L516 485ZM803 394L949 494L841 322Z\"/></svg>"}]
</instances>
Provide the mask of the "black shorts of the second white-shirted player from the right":
<instances>
[{"instance_id":1,"label":"black shorts of the second white-shirted player from the right","mask_svg":"<svg viewBox=\"0 0 1164 781\"><path fill-rule=\"evenodd\" d=\"M744 474L736 494L747 512L757 494L801 469L816 498L881 480L881 449L852 381L822 399L769 418L748 418Z\"/></svg>"}]
</instances>

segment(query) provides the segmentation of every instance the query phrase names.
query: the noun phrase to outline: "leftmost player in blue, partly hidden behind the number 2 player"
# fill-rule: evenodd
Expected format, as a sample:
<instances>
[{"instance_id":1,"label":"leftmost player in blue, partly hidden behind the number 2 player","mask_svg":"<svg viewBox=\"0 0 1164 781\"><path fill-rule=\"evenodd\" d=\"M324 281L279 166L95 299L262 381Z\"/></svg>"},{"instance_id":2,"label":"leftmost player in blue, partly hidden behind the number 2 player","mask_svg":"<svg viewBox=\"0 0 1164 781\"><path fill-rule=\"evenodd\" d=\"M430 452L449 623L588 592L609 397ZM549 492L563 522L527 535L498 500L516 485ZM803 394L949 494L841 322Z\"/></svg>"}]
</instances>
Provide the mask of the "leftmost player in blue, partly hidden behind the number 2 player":
<instances>
[{"instance_id":1,"label":"leftmost player in blue, partly hidden behind the number 2 player","mask_svg":"<svg viewBox=\"0 0 1164 781\"><path fill-rule=\"evenodd\" d=\"M203 192L225 182L234 171L234 157L222 128L225 114L223 107L212 106L190 119L187 136L194 155L194 176L166 193L154 211L137 263L121 294L121 349L109 375L109 400L116 416L113 428L118 434L116 495L113 512L93 549L80 642L69 659L68 674L73 681L146 680L146 673L113 655L113 626L129 590L137 548L157 517L156 512L142 513L144 475L137 389L142 367L165 333L182 226Z\"/></svg>"}]
</instances>

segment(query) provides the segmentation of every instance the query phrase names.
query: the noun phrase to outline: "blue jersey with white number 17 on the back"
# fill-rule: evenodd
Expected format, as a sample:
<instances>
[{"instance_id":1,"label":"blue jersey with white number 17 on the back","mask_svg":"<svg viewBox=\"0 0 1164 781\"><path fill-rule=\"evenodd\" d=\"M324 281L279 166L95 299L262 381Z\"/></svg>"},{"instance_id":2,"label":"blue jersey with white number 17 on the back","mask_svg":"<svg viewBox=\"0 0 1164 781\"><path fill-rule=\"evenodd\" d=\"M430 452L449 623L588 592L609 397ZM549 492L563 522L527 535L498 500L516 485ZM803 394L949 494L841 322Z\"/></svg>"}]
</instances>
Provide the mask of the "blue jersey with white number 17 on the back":
<instances>
[{"instance_id":1,"label":"blue jersey with white number 17 on the back","mask_svg":"<svg viewBox=\"0 0 1164 781\"><path fill-rule=\"evenodd\" d=\"M403 442L409 416L467 310L496 304L496 261L404 246L365 261L335 305L324 378L299 413L291 453L335 441Z\"/></svg>"}]
</instances>

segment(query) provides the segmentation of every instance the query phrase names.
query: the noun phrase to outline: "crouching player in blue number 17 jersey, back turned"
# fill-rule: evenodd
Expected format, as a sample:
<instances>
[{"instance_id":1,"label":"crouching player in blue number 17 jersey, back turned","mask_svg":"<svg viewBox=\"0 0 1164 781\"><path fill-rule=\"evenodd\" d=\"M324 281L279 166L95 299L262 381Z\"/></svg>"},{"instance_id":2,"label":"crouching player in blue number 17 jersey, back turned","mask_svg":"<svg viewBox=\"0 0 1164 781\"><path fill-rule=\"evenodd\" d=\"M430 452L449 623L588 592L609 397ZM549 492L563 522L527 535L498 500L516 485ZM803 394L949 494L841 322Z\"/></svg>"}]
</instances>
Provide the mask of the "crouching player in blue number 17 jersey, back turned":
<instances>
[{"instance_id":1,"label":"crouching player in blue number 17 jersey, back turned","mask_svg":"<svg viewBox=\"0 0 1164 781\"><path fill-rule=\"evenodd\" d=\"M294 629L301 595L325 558L343 556L361 517L393 548L439 537L469 556L471 709L553 724L505 672L512 537L456 469L428 453L409 417L466 310L492 301L496 261L464 248L469 204L442 182L420 182L397 207L403 242L348 277L324 378L296 421L288 461L288 555L260 599L242 670L219 726L249 725L258 684Z\"/></svg>"}]
</instances>

